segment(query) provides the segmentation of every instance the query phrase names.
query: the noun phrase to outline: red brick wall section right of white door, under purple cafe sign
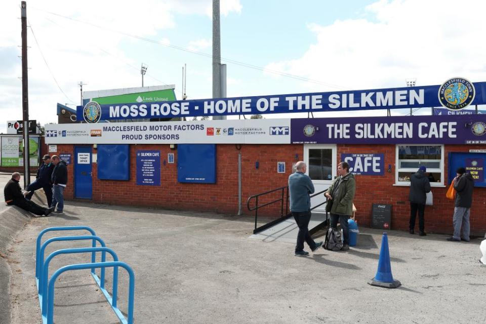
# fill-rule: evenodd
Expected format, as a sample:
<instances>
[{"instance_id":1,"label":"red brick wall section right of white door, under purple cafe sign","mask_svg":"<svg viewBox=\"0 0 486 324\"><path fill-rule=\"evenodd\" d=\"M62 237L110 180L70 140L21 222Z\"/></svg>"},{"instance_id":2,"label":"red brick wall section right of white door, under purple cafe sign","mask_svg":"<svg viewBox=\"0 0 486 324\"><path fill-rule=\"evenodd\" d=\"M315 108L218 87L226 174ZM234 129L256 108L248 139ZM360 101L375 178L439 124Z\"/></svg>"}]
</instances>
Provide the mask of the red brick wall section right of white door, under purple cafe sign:
<instances>
[{"instance_id":1,"label":"red brick wall section right of white door, under purple cafe sign","mask_svg":"<svg viewBox=\"0 0 486 324\"><path fill-rule=\"evenodd\" d=\"M445 145L444 175L448 181L449 152L468 152L469 149L483 149L480 145ZM338 145L338 159L341 153L384 153L384 176L356 176L356 219L359 223L370 226L373 203L392 205L393 229L408 230L410 203L408 186L393 186L395 183L395 145ZM388 173L388 165L392 166ZM447 184L449 185L449 184ZM447 186L448 187L448 186ZM432 188L433 206L425 207L425 230L430 232L451 232L454 201L446 198L446 188ZM486 231L486 188L474 188L471 208L471 230L484 235ZM416 222L418 226L418 220Z\"/></svg>"}]
</instances>

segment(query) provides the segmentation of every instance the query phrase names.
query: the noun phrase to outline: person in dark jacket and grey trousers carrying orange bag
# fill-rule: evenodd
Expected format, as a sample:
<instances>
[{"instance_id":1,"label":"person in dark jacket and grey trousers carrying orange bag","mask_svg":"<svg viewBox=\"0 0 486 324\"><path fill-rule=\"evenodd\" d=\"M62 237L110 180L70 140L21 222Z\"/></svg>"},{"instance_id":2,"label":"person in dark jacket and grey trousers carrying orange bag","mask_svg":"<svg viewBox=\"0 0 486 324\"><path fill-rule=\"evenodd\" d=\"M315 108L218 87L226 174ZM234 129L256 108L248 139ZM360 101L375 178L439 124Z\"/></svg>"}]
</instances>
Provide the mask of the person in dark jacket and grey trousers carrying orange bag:
<instances>
[{"instance_id":1,"label":"person in dark jacket and grey trousers carrying orange bag","mask_svg":"<svg viewBox=\"0 0 486 324\"><path fill-rule=\"evenodd\" d=\"M474 179L471 174L466 173L466 169L459 168L453 180L454 190L456 190L456 200L454 202L454 235L448 241L459 242L461 240L469 242L469 209L472 205L472 190Z\"/></svg>"}]
</instances>

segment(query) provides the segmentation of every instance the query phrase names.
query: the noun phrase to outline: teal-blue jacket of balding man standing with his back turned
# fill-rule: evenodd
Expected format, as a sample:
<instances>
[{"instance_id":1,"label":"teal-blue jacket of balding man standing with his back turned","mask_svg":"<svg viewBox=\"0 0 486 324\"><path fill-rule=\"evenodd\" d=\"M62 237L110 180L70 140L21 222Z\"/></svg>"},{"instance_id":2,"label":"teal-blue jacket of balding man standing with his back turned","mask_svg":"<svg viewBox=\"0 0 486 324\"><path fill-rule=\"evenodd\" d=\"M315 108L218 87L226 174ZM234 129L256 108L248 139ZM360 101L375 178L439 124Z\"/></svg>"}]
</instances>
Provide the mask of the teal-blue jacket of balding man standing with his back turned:
<instances>
[{"instance_id":1,"label":"teal-blue jacket of balding man standing with his back turned","mask_svg":"<svg viewBox=\"0 0 486 324\"><path fill-rule=\"evenodd\" d=\"M307 212L310 210L310 193L314 193L314 184L309 176L295 172L289 176L290 211Z\"/></svg>"}]
</instances>

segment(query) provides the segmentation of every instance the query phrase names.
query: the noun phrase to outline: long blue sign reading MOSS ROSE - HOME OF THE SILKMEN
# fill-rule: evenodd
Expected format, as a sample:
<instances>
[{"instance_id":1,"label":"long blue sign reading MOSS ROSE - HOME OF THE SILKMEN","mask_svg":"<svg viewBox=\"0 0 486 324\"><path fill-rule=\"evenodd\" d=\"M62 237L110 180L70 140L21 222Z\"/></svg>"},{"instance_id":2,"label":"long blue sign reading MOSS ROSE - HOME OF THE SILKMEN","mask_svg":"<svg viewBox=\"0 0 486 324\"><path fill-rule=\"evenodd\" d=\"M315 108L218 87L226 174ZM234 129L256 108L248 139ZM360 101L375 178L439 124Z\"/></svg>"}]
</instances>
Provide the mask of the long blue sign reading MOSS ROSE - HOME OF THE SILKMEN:
<instances>
[{"instance_id":1,"label":"long blue sign reading MOSS ROSE - HOME OF THE SILKMEN","mask_svg":"<svg viewBox=\"0 0 486 324\"><path fill-rule=\"evenodd\" d=\"M77 107L77 120L99 120L211 115L268 114L420 108L444 106L460 110L486 103L486 82L451 78L441 86L318 92L274 96L235 97L164 102L99 104Z\"/></svg>"}]
</instances>

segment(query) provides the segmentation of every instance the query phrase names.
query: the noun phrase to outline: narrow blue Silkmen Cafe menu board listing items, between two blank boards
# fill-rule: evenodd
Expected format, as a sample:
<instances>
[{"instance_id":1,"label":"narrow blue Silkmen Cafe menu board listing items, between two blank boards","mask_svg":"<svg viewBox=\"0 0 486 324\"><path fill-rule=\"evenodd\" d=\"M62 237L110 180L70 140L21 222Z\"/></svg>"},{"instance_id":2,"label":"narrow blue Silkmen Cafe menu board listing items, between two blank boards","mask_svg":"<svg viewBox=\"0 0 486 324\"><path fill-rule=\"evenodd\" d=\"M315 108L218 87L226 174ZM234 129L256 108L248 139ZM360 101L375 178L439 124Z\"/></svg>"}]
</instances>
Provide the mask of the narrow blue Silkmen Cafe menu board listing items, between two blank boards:
<instances>
[{"instance_id":1,"label":"narrow blue Silkmen Cafe menu board listing items, between two blank boards","mask_svg":"<svg viewBox=\"0 0 486 324\"><path fill-rule=\"evenodd\" d=\"M160 186L160 151L137 151L137 185Z\"/></svg>"}]
</instances>

